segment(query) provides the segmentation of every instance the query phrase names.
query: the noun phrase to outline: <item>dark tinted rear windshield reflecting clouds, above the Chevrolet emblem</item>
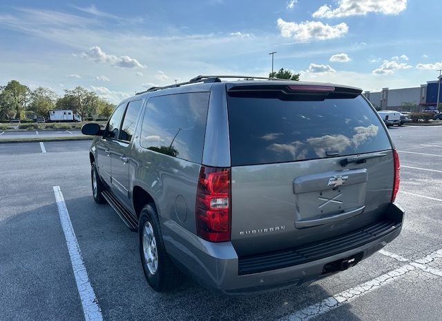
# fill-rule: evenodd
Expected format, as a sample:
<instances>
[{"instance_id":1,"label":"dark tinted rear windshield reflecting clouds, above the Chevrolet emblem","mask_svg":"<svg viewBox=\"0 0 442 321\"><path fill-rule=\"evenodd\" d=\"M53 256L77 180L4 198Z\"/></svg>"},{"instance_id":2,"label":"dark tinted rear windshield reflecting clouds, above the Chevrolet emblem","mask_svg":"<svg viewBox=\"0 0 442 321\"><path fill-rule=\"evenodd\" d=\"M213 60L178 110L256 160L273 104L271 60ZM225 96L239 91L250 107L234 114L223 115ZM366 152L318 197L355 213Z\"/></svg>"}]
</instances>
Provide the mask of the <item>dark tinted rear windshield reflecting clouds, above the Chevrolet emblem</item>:
<instances>
[{"instance_id":1,"label":"dark tinted rear windshield reflecting clouds, above the Chevrolet emblem","mask_svg":"<svg viewBox=\"0 0 442 321\"><path fill-rule=\"evenodd\" d=\"M391 149L362 96L282 101L228 96L231 164L256 165Z\"/></svg>"}]
</instances>

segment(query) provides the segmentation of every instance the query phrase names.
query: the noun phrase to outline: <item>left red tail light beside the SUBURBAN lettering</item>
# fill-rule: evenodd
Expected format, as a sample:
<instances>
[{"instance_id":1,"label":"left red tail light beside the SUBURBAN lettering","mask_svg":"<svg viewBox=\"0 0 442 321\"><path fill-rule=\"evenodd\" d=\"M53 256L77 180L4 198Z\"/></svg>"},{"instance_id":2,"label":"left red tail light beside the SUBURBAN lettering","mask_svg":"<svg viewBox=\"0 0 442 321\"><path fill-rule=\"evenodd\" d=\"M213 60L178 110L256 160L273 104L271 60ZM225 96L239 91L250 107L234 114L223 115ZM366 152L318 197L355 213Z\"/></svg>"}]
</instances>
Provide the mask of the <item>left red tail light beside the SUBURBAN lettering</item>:
<instances>
[{"instance_id":1,"label":"left red tail light beside the SUBURBAN lettering","mask_svg":"<svg viewBox=\"0 0 442 321\"><path fill-rule=\"evenodd\" d=\"M230 240L230 169L202 166L196 195L197 235L211 242Z\"/></svg>"}]
</instances>

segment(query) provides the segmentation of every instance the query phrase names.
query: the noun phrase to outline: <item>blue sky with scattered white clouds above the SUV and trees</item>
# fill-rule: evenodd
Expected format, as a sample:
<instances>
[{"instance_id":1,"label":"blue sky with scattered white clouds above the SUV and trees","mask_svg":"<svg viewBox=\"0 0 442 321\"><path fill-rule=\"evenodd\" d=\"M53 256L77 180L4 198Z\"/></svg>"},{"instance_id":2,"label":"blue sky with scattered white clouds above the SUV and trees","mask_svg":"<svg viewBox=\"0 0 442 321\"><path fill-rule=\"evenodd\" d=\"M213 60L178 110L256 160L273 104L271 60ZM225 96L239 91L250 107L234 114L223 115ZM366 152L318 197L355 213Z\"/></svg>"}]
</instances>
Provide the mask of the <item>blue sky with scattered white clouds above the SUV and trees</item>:
<instances>
[{"instance_id":1,"label":"blue sky with scattered white clouds above the SUV and trees","mask_svg":"<svg viewBox=\"0 0 442 321\"><path fill-rule=\"evenodd\" d=\"M379 91L442 68L440 0L0 2L0 85L57 94L77 85L113 103L198 74L268 76Z\"/></svg>"}]
</instances>

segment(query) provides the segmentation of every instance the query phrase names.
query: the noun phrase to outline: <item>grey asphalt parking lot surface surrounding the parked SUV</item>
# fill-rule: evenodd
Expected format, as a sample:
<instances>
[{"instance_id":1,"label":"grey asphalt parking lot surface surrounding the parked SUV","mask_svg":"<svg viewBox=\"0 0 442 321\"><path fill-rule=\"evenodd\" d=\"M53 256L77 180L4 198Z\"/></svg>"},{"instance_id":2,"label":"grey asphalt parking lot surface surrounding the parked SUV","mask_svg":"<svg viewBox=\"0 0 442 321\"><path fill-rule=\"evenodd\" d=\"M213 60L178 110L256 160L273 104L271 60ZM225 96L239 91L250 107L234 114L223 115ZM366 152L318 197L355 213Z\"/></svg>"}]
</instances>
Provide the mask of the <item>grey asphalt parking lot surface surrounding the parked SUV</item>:
<instances>
[{"instance_id":1,"label":"grey asphalt parking lot surface surrounding the parked SUV","mask_svg":"<svg viewBox=\"0 0 442 321\"><path fill-rule=\"evenodd\" d=\"M442 320L442 126L390 133L401 159L401 236L352 269L247 298L191 280L166 294L148 287L137 234L91 196L90 141L0 144L0 319L81 320L90 284L88 318L97 320ZM75 244L66 243L66 217ZM84 268L88 282L79 282Z\"/></svg>"}]
</instances>

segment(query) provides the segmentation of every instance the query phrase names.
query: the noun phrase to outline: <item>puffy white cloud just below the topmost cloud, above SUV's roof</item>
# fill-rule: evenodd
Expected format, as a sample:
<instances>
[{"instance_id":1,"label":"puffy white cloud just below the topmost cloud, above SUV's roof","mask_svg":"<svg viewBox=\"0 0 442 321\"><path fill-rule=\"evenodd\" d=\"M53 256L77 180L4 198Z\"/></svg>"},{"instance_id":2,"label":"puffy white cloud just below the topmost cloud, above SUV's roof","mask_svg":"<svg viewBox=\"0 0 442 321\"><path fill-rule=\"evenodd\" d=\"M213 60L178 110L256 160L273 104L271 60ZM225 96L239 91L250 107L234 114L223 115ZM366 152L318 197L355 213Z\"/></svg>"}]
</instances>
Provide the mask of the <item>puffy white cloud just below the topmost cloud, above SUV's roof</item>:
<instances>
[{"instance_id":1,"label":"puffy white cloud just below the topmost cloud, above SUV's roof","mask_svg":"<svg viewBox=\"0 0 442 321\"><path fill-rule=\"evenodd\" d=\"M338 25L328 25L320 21L295 23L282 19L278 19L277 23L282 37L294 38L299 41L340 38L348 32L346 23L339 23Z\"/></svg>"}]
</instances>

